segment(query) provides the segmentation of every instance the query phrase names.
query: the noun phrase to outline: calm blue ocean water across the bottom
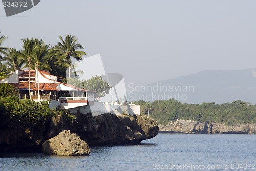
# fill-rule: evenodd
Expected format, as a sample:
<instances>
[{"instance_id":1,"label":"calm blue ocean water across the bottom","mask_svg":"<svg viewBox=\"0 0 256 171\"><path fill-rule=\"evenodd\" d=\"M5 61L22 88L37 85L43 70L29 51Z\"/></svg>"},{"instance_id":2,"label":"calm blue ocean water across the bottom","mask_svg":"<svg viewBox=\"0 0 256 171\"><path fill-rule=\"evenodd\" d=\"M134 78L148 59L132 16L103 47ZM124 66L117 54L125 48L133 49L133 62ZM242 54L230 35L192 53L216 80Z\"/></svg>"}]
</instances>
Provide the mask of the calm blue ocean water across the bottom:
<instances>
[{"instance_id":1,"label":"calm blue ocean water across the bottom","mask_svg":"<svg viewBox=\"0 0 256 171\"><path fill-rule=\"evenodd\" d=\"M89 156L0 154L0 170L256 170L256 135L158 134Z\"/></svg>"}]
</instances>

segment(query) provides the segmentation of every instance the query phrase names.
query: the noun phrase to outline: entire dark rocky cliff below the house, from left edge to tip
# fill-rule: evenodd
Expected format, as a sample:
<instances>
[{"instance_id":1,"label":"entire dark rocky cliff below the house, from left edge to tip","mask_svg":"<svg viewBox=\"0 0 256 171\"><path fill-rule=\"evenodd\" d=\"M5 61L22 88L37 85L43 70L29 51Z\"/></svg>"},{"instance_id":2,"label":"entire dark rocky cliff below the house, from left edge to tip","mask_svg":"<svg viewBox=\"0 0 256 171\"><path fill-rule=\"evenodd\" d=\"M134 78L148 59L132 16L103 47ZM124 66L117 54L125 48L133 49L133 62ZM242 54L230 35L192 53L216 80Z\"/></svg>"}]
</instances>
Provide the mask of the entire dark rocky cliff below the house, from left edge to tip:
<instances>
[{"instance_id":1,"label":"entire dark rocky cliff below the house, from left edge to tip","mask_svg":"<svg viewBox=\"0 0 256 171\"><path fill-rule=\"evenodd\" d=\"M46 140L63 130L76 133L90 146L113 144L138 144L158 134L155 120L142 115L73 114L76 119L67 120L62 116L51 118L44 130L36 127L0 128L0 151L22 152L41 151Z\"/></svg>"}]
</instances>

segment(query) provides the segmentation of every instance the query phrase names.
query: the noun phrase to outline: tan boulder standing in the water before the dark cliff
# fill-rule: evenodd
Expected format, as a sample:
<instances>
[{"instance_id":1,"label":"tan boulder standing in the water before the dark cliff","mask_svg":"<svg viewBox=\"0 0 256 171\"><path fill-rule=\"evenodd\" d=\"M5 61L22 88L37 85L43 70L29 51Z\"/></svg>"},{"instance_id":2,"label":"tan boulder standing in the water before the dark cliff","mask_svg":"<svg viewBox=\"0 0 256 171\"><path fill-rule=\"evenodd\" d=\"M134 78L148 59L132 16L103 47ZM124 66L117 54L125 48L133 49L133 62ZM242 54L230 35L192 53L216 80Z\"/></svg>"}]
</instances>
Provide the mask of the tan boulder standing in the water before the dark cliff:
<instances>
[{"instance_id":1,"label":"tan boulder standing in the water before the dark cliff","mask_svg":"<svg viewBox=\"0 0 256 171\"><path fill-rule=\"evenodd\" d=\"M89 155L88 144L81 140L79 136L64 130L59 135L45 141L42 144L45 154L55 154L60 156Z\"/></svg>"}]
</instances>

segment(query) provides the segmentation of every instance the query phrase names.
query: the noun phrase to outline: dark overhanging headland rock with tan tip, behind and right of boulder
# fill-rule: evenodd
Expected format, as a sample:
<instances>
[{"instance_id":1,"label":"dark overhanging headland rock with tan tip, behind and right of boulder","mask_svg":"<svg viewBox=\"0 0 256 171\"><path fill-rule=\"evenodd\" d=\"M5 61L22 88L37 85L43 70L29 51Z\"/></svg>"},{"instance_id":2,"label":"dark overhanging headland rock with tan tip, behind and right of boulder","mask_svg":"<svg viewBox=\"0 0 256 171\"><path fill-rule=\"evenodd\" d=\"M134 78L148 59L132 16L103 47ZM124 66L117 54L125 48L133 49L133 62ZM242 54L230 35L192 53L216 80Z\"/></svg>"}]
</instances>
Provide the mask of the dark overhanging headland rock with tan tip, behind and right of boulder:
<instances>
[{"instance_id":1,"label":"dark overhanging headland rock with tan tip, behind and right of boulder","mask_svg":"<svg viewBox=\"0 0 256 171\"><path fill-rule=\"evenodd\" d=\"M77 112L77 119L69 125L61 124L61 119L50 122L46 138L53 137L63 129L71 130L86 141L89 146L113 144L138 144L158 134L156 121L144 115L102 114L92 117Z\"/></svg>"}]
</instances>

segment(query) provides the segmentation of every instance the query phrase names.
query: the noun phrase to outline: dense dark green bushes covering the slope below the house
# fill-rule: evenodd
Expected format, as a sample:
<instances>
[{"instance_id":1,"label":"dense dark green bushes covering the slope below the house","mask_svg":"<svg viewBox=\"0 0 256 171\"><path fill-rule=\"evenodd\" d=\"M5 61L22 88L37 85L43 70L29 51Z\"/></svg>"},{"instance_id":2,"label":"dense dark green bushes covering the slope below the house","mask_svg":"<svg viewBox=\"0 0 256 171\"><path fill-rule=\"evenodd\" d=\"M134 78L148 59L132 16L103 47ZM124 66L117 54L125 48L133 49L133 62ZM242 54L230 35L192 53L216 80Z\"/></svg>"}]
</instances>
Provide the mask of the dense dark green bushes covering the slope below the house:
<instances>
[{"instance_id":1,"label":"dense dark green bushes covering the slope below the house","mask_svg":"<svg viewBox=\"0 0 256 171\"><path fill-rule=\"evenodd\" d=\"M19 100L18 91L10 84L0 84L0 128L44 130L46 122L57 115L61 115L67 123L76 119L68 110L50 109L47 100Z\"/></svg>"}]
</instances>

